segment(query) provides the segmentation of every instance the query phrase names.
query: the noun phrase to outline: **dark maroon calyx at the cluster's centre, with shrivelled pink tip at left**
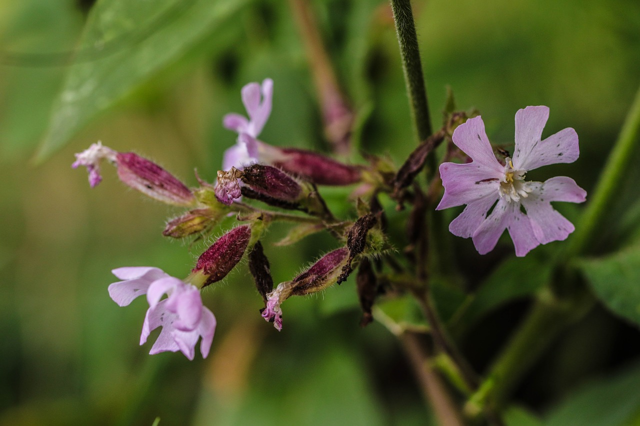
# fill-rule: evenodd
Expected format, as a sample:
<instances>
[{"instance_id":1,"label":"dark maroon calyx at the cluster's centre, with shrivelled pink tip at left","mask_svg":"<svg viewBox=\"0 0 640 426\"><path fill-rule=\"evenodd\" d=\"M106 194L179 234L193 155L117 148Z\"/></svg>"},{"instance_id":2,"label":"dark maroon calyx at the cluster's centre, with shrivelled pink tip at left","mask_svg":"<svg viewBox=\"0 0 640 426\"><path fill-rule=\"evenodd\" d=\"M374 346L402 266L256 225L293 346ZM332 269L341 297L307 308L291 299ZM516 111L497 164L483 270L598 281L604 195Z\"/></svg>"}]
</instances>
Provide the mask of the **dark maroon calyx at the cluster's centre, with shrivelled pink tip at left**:
<instances>
[{"instance_id":1,"label":"dark maroon calyx at the cluster's centre, with shrivelled pink tip at left","mask_svg":"<svg viewBox=\"0 0 640 426\"><path fill-rule=\"evenodd\" d=\"M253 164L244 168L241 180L257 193L282 201L298 201L302 188L284 171L271 166Z\"/></svg>"}]
</instances>

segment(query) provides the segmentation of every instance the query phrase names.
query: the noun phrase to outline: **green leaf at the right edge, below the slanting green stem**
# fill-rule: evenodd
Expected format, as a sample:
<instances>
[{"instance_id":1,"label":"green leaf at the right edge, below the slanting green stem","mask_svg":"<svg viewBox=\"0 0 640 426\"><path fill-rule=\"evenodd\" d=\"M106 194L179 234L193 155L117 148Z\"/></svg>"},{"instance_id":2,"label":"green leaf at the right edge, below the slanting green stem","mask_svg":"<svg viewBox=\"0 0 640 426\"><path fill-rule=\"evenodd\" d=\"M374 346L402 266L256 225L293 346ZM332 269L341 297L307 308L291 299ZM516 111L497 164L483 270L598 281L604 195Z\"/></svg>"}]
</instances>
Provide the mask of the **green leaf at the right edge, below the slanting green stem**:
<instances>
[{"instance_id":1,"label":"green leaf at the right edge, below the slanting green stem","mask_svg":"<svg viewBox=\"0 0 640 426\"><path fill-rule=\"evenodd\" d=\"M640 245L580 260L578 266L607 308L640 325Z\"/></svg>"}]
</instances>

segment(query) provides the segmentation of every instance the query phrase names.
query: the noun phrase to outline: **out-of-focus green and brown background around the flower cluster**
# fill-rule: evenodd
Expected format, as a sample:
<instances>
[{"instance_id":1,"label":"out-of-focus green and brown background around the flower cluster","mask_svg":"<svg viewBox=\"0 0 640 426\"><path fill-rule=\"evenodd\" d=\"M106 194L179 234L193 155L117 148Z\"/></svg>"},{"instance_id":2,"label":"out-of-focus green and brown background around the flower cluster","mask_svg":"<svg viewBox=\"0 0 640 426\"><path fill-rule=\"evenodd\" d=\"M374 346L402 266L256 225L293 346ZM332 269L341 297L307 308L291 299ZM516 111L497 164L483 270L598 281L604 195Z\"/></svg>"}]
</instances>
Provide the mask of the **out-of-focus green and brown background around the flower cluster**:
<instances>
[{"instance_id":1,"label":"out-of-focus green and brown background around the flower cluster","mask_svg":"<svg viewBox=\"0 0 640 426\"><path fill-rule=\"evenodd\" d=\"M362 122L360 149L401 164L415 142L388 4L311 4ZM481 111L493 143L513 143L517 109L547 105L545 135L573 127L580 136L579 161L557 171L589 191L640 83L640 3L414 7L434 125L447 86L460 109ZM286 2L0 0L0 424L150 425L156 416L166 425L432 422L394 337L377 322L358 327L353 280L287 301L277 333L260 317L262 301L239 265L204 293L218 328L209 358L193 362L148 356L149 343L138 347L145 302L119 308L108 297L111 269L153 265L186 276L213 239L164 239L166 219L179 210L129 190L106 164L104 182L90 189L84 170L70 168L73 154L101 140L189 185L194 168L212 181L235 141L223 115L244 113L241 87L266 77L275 93L260 139L326 150ZM638 172L634 166L621 182L609 223L637 199ZM575 217L579 207L564 209ZM601 247L615 246L611 228ZM272 230L267 242L284 232ZM455 244L472 255L469 269L482 262L470 241ZM335 242L318 235L265 246L280 282ZM481 274L497 260L488 259ZM507 335L504 319L526 306L503 306L467 336L463 349L477 368ZM596 308L538 363L508 422L584 425L579 414L600 403L611 416L598 424L626 424L640 413L640 370L628 367L639 354L636 328Z\"/></svg>"}]
</instances>

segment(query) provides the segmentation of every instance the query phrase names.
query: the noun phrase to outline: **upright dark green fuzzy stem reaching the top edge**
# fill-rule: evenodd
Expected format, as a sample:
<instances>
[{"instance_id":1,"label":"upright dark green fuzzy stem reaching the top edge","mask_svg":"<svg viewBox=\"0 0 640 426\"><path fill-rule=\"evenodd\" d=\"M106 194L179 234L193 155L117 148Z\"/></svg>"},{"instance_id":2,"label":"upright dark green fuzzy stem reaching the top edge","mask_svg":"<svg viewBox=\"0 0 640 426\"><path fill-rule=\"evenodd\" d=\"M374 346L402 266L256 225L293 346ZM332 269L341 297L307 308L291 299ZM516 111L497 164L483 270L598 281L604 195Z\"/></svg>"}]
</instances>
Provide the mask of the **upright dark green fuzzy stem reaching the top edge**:
<instances>
[{"instance_id":1,"label":"upright dark green fuzzy stem reaching the top edge","mask_svg":"<svg viewBox=\"0 0 640 426\"><path fill-rule=\"evenodd\" d=\"M413 11L410 0L391 0L391 8L396 22L396 33L402 56L404 81L409 95L413 125L419 141L431 136L431 120L424 86L418 37L415 33Z\"/></svg>"}]
</instances>

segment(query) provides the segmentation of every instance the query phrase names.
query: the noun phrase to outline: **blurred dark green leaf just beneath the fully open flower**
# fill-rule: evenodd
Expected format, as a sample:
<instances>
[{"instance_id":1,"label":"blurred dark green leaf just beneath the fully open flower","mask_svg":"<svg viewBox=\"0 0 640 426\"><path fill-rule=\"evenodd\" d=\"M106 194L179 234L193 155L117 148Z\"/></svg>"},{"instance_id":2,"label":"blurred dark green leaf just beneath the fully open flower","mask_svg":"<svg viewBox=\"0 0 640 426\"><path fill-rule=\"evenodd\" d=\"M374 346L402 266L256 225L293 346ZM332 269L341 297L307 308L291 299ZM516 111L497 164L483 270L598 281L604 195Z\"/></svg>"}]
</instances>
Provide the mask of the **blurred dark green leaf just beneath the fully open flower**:
<instances>
[{"instance_id":1,"label":"blurred dark green leaf just beneath the fully open flower","mask_svg":"<svg viewBox=\"0 0 640 426\"><path fill-rule=\"evenodd\" d=\"M548 283L550 273L551 262L540 258L508 258L483 281L458 321L470 324L501 304L534 294Z\"/></svg>"}]
</instances>

